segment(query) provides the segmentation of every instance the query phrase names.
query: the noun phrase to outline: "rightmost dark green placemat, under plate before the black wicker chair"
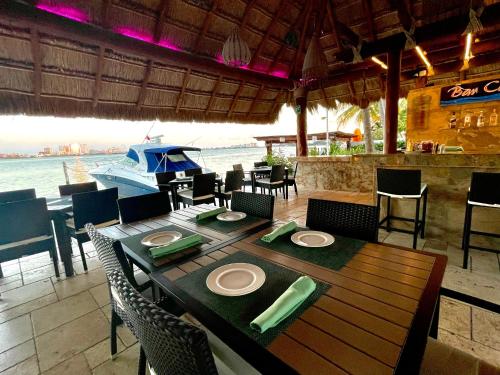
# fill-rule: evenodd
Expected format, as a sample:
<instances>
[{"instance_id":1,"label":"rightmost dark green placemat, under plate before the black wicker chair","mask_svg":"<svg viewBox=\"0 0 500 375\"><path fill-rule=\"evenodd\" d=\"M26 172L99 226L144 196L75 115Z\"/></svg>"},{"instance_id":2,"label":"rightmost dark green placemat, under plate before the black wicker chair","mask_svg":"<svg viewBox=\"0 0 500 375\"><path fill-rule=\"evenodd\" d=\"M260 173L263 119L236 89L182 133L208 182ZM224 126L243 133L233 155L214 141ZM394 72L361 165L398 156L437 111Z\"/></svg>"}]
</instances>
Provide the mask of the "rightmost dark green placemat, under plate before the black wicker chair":
<instances>
[{"instance_id":1,"label":"rightmost dark green placemat, under plate before the black wicker chair","mask_svg":"<svg viewBox=\"0 0 500 375\"><path fill-rule=\"evenodd\" d=\"M294 244L290 239L292 234L304 230L309 229L297 228L292 232L276 238L271 243L264 242L260 238L254 241L254 243L335 271L344 267L347 262L349 262L351 258L366 244L366 241L338 235L334 236L335 242L326 247L310 248Z\"/></svg>"}]
</instances>

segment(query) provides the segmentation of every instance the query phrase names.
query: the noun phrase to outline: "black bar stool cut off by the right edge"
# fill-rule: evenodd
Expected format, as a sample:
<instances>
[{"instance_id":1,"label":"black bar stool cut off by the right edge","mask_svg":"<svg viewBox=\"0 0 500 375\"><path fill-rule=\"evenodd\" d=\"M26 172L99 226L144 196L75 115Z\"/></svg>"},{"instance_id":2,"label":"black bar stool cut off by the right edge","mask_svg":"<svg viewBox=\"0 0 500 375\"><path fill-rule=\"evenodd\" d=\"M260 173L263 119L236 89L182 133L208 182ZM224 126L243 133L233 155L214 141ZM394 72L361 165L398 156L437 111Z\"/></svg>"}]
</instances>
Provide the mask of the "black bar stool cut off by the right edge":
<instances>
[{"instance_id":1,"label":"black bar stool cut off by the right edge","mask_svg":"<svg viewBox=\"0 0 500 375\"><path fill-rule=\"evenodd\" d=\"M462 267L467 268L469 261L469 249L500 253L500 250L490 249L470 244L470 235L500 238L500 233L488 233L472 230L472 208L487 207L500 209L500 173L472 172L472 179L467 193L467 207L465 210L464 234L462 237L462 248L464 249L464 261Z\"/></svg>"}]
</instances>

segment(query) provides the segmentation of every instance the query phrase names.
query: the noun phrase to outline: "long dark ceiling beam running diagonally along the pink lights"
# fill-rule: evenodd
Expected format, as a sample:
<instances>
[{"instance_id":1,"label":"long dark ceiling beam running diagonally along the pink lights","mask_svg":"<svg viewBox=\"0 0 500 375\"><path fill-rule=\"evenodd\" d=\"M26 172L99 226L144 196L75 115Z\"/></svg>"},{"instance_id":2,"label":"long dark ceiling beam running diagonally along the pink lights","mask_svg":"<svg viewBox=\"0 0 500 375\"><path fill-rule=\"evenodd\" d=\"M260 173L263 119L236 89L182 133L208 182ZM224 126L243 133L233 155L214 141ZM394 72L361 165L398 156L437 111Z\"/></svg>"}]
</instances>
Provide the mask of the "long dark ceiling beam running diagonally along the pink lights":
<instances>
[{"instance_id":1,"label":"long dark ceiling beam running diagonally along the pink lights","mask_svg":"<svg viewBox=\"0 0 500 375\"><path fill-rule=\"evenodd\" d=\"M191 53L173 51L151 43L135 40L90 24L76 22L30 5L7 1L0 2L0 19L12 25L37 27L40 32L67 38L93 46L103 46L117 52L151 59L167 65L191 68L206 74L222 75L226 78L244 80L256 85L265 84L273 88L292 88L293 82L251 70L237 69L220 64L213 59L194 56Z\"/></svg>"}]
</instances>

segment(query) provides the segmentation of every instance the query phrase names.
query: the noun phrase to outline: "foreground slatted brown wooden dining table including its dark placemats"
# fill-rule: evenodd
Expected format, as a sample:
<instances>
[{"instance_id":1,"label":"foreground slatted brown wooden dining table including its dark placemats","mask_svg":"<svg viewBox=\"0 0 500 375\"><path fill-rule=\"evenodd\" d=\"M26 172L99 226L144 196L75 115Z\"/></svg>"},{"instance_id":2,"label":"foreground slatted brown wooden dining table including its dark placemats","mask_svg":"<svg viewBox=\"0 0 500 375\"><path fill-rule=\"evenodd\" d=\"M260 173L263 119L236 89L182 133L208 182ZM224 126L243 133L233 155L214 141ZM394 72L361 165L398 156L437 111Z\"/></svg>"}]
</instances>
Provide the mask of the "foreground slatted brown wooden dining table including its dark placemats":
<instances>
[{"instance_id":1,"label":"foreground slatted brown wooden dining table including its dark placemats","mask_svg":"<svg viewBox=\"0 0 500 375\"><path fill-rule=\"evenodd\" d=\"M428 336L437 336L445 256L340 236L332 245L337 248L317 256L318 249L297 249L289 235L264 243L260 238L268 232L154 272L151 279L263 373L418 373ZM261 289L241 297L210 292L207 274L233 262L264 269ZM300 275L317 284L306 303L266 333L252 331L252 319L286 289L280 280Z\"/></svg>"}]
</instances>

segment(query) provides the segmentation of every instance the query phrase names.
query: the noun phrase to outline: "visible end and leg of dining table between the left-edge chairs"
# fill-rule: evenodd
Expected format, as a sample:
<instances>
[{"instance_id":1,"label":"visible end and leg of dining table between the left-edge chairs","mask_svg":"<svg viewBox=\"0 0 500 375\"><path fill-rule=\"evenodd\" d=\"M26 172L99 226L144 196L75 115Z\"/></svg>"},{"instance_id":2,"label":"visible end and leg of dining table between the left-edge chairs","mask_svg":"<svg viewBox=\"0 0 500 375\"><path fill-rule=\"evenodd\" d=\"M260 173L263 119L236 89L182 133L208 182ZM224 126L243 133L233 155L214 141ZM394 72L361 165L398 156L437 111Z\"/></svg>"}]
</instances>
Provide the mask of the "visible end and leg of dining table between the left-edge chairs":
<instances>
[{"instance_id":1,"label":"visible end and leg of dining table between the left-edge chairs","mask_svg":"<svg viewBox=\"0 0 500 375\"><path fill-rule=\"evenodd\" d=\"M47 198L47 209L50 219L54 223L54 232L61 261L64 264L66 277L74 275L71 237L66 227L66 220L73 211L71 196L61 198Z\"/></svg>"}]
</instances>

